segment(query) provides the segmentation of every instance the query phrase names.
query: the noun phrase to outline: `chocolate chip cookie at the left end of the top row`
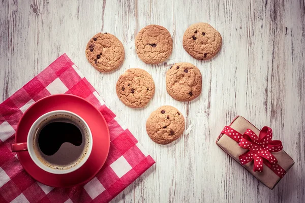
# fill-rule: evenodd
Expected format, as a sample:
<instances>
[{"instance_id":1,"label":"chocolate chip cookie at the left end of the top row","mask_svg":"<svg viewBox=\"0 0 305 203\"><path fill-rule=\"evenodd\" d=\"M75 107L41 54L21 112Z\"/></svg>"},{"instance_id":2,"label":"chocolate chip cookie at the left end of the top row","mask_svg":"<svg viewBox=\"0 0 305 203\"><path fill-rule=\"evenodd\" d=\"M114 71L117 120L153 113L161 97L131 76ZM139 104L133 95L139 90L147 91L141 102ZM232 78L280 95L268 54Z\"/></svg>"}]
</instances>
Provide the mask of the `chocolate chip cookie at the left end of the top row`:
<instances>
[{"instance_id":1,"label":"chocolate chip cookie at the left end of the top row","mask_svg":"<svg viewBox=\"0 0 305 203\"><path fill-rule=\"evenodd\" d=\"M110 33L97 33L86 46L86 57L98 71L110 72L124 61L123 44Z\"/></svg>"}]
</instances>

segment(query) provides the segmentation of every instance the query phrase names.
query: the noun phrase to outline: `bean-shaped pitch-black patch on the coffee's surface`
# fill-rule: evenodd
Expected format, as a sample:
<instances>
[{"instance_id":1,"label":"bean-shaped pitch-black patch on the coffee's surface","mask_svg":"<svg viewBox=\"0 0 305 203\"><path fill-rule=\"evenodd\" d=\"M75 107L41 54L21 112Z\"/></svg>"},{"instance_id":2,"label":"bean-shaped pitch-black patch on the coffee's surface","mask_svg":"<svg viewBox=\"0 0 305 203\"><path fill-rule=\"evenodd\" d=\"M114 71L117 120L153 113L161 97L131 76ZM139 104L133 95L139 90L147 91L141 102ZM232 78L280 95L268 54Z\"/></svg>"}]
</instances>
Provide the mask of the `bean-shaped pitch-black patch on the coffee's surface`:
<instances>
[{"instance_id":1,"label":"bean-shaped pitch-black patch on the coffee's surface","mask_svg":"<svg viewBox=\"0 0 305 203\"><path fill-rule=\"evenodd\" d=\"M82 140L82 133L76 125L67 122L52 122L41 129L38 146L43 154L51 156L59 150L63 143L80 146Z\"/></svg>"}]
</instances>

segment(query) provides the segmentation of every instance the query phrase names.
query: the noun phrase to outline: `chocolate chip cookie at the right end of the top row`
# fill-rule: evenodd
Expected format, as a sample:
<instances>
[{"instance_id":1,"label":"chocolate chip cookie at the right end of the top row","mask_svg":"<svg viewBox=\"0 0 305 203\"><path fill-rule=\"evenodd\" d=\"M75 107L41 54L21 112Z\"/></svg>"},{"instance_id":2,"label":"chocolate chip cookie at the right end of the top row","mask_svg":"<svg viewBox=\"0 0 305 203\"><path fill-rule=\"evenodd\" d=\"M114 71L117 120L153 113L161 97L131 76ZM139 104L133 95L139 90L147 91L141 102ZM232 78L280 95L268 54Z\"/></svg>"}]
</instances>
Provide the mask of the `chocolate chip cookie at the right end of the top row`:
<instances>
[{"instance_id":1,"label":"chocolate chip cookie at the right end of the top row","mask_svg":"<svg viewBox=\"0 0 305 203\"><path fill-rule=\"evenodd\" d=\"M207 23L196 23L188 27L183 36L184 49L194 58L208 60L221 48L220 33Z\"/></svg>"}]
</instances>

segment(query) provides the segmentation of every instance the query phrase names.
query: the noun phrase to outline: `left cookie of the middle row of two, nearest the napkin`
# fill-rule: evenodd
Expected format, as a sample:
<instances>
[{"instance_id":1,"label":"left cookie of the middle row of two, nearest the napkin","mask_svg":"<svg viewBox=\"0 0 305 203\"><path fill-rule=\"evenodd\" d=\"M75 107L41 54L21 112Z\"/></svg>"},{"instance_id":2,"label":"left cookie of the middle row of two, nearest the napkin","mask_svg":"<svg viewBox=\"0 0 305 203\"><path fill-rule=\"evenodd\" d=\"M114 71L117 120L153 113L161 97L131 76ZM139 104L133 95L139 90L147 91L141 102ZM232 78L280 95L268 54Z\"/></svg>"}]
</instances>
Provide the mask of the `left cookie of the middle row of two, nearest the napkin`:
<instances>
[{"instance_id":1,"label":"left cookie of the middle row of two, nearest the napkin","mask_svg":"<svg viewBox=\"0 0 305 203\"><path fill-rule=\"evenodd\" d=\"M126 106L145 107L155 94L155 83L143 69L129 69L118 78L116 94Z\"/></svg>"}]
</instances>

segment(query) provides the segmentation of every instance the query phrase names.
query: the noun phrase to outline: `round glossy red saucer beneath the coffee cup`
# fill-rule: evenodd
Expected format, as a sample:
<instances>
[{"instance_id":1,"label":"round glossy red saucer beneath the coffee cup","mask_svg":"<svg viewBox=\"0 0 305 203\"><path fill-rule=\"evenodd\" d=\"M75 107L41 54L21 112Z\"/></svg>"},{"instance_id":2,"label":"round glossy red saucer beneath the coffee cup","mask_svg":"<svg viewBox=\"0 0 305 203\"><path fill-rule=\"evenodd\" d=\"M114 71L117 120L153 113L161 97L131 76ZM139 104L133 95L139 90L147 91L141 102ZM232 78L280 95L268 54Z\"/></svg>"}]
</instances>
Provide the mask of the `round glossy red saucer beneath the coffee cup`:
<instances>
[{"instance_id":1,"label":"round glossy red saucer beneath the coffee cup","mask_svg":"<svg viewBox=\"0 0 305 203\"><path fill-rule=\"evenodd\" d=\"M55 111L71 111L82 117L88 124L93 137L92 152L88 160L78 170L69 174L51 174L43 171L31 159L27 151L17 152L24 170L35 180L51 187L72 187L85 183L101 170L110 147L109 129L101 112L87 100L71 94L55 94L40 99L21 117L16 130L16 143L24 143L29 128L43 114Z\"/></svg>"}]
</instances>

